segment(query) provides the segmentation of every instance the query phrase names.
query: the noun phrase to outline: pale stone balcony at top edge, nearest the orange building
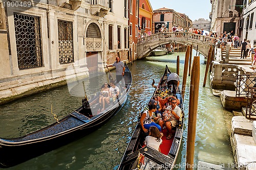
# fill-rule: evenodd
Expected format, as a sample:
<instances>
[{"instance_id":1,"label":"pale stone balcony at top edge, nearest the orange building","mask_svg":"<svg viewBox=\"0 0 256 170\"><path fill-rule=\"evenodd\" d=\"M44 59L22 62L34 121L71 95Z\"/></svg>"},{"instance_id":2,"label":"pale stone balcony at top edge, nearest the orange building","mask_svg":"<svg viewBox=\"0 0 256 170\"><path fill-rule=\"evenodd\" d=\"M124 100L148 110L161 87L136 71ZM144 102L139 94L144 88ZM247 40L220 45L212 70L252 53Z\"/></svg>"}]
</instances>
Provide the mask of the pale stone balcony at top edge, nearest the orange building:
<instances>
[{"instance_id":1,"label":"pale stone balcony at top edge, nearest the orange building","mask_svg":"<svg viewBox=\"0 0 256 170\"><path fill-rule=\"evenodd\" d=\"M91 14L104 17L110 11L108 0L90 0Z\"/></svg>"}]
</instances>

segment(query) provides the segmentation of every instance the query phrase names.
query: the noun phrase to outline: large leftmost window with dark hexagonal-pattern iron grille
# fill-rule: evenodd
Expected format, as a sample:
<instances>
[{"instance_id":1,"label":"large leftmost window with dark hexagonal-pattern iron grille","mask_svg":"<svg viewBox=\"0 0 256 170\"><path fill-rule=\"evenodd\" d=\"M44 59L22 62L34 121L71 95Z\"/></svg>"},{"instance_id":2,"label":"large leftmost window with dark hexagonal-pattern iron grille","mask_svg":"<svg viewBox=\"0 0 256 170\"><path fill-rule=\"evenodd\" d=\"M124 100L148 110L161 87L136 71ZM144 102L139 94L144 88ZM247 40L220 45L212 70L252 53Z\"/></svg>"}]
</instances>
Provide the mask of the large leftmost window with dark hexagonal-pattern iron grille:
<instances>
[{"instance_id":1,"label":"large leftmost window with dark hexagonal-pattern iron grille","mask_svg":"<svg viewBox=\"0 0 256 170\"><path fill-rule=\"evenodd\" d=\"M42 66L40 18L14 13L18 68Z\"/></svg>"}]
</instances>

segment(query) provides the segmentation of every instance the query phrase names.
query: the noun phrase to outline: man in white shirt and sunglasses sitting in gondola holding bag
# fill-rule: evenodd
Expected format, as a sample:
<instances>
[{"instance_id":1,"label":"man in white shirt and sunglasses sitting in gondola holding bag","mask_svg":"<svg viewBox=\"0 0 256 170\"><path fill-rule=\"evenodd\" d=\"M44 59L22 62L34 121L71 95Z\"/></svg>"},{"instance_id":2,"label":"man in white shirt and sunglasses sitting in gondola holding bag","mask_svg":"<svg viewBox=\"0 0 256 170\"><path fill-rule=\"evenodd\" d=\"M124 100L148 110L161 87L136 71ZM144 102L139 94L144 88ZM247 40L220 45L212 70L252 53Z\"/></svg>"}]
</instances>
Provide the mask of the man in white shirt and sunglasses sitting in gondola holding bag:
<instances>
[{"instance_id":1,"label":"man in white shirt and sunglasses sitting in gondola holding bag","mask_svg":"<svg viewBox=\"0 0 256 170\"><path fill-rule=\"evenodd\" d=\"M163 126L166 126L166 129L168 130L166 139L172 138L172 128L177 126L181 116L181 109L177 106L177 100L174 98L170 99L172 101L171 105L166 108L162 114L162 119L159 120L161 129L163 129Z\"/></svg>"}]
</instances>

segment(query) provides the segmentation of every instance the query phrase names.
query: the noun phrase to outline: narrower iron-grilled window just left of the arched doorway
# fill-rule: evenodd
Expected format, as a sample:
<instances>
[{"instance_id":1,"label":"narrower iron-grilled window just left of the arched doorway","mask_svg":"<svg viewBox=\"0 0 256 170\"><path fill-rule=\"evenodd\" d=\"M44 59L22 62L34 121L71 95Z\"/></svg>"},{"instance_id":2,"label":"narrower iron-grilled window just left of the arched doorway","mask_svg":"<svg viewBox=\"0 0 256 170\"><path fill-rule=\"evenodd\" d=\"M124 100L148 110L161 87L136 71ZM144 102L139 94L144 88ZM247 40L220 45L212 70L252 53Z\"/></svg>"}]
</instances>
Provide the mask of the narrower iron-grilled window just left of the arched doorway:
<instances>
[{"instance_id":1,"label":"narrower iron-grilled window just left of the arched doorway","mask_svg":"<svg viewBox=\"0 0 256 170\"><path fill-rule=\"evenodd\" d=\"M73 24L71 21L58 19L59 63L74 62Z\"/></svg>"}]
</instances>

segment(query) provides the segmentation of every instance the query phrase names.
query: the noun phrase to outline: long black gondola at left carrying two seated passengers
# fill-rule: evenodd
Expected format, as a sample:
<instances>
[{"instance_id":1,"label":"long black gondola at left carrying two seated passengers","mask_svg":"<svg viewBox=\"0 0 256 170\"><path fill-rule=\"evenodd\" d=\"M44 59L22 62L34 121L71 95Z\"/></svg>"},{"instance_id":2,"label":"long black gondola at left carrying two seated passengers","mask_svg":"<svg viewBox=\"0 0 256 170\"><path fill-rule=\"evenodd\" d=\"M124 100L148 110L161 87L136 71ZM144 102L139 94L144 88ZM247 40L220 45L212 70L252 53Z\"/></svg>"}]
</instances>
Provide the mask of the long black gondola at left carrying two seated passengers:
<instances>
[{"instance_id":1,"label":"long black gondola at left carrying two seated passengers","mask_svg":"<svg viewBox=\"0 0 256 170\"><path fill-rule=\"evenodd\" d=\"M132 85L132 75L125 65L123 90L119 98L103 111L99 109L99 94L58 122L22 137L0 138L0 167L10 167L77 140L104 125L124 105ZM118 85L116 85L118 86Z\"/></svg>"}]
</instances>

